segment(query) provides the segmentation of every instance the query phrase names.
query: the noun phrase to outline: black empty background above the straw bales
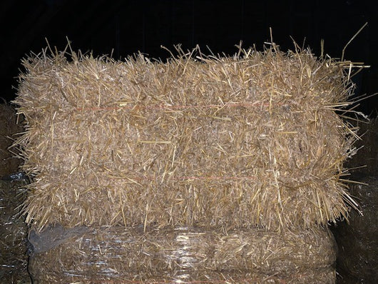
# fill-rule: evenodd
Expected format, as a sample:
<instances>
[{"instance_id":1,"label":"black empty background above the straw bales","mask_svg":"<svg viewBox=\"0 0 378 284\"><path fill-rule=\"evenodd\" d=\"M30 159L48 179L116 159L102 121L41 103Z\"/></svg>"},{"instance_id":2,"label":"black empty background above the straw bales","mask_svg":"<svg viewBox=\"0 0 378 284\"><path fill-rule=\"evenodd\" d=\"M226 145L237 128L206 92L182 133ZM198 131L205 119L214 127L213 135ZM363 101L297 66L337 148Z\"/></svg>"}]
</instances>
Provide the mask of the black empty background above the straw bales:
<instances>
[{"instance_id":1,"label":"black empty background above the straw bales","mask_svg":"<svg viewBox=\"0 0 378 284\"><path fill-rule=\"evenodd\" d=\"M216 53L234 54L241 40L245 48L273 41L282 51L294 49L292 39L320 56L340 58L345 44L366 23L345 51L344 59L370 65L359 76L357 94L378 92L378 1L359 0L3 0L0 6L0 97L10 101L17 86L21 59L46 47L93 51L123 59L138 51L165 59L174 44L183 49L200 45ZM292 39L290 38L292 37ZM22 69L21 69L22 70ZM12 87L13 86L13 87ZM378 96L360 109L376 116Z\"/></svg>"}]
</instances>

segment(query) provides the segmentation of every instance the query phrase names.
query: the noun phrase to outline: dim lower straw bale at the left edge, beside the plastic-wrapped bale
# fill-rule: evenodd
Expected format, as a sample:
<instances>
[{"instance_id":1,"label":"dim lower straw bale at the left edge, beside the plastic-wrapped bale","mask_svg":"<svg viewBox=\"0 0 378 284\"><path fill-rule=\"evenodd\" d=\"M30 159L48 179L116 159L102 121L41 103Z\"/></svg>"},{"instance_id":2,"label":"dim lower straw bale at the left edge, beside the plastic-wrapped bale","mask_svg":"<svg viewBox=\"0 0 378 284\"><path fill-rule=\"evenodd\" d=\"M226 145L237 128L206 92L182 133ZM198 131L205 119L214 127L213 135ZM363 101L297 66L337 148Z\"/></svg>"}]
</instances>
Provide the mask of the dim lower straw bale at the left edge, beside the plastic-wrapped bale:
<instances>
[{"instance_id":1,"label":"dim lower straw bale at the left edge, beside the plastic-wrapped bale","mask_svg":"<svg viewBox=\"0 0 378 284\"><path fill-rule=\"evenodd\" d=\"M0 181L0 279L1 283L30 283L27 271L26 238L28 228L20 218L26 193L24 182Z\"/></svg>"}]
</instances>

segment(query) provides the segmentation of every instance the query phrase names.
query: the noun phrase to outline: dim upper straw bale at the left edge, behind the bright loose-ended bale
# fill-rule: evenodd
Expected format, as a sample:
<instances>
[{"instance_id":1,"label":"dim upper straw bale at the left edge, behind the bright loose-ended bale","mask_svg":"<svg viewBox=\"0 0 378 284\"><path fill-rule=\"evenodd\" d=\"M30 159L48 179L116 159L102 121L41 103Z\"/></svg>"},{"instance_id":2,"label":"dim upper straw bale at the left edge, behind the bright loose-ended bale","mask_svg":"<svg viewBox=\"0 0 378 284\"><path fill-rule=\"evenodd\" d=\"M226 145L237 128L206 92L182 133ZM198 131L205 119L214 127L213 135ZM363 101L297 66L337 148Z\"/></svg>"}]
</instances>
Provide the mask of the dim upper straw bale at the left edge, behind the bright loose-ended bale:
<instances>
[{"instance_id":1,"label":"dim upper straw bale at the left edge, behind the bright loose-ended bale","mask_svg":"<svg viewBox=\"0 0 378 284\"><path fill-rule=\"evenodd\" d=\"M17 123L17 119L14 107L0 103L0 178L18 171L22 162L21 158L16 158L18 152L15 148L11 150L14 153L9 151L16 133L23 131L21 121Z\"/></svg>"}]
</instances>

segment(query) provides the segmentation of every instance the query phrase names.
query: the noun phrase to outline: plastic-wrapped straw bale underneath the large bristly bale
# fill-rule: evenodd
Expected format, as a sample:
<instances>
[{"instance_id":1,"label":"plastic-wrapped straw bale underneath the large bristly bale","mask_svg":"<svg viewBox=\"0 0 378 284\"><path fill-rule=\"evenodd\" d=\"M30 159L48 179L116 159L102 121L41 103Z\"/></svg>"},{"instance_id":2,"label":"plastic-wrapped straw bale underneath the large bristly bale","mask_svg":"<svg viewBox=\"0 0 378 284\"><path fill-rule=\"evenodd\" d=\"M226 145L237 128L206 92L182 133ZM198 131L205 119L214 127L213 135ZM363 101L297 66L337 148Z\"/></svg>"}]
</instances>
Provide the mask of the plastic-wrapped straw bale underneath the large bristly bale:
<instances>
[{"instance_id":1,"label":"plastic-wrapped straw bale underneath the large bristly bale","mask_svg":"<svg viewBox=\"0 0 378 284\"><path fill-rule=\"evenodd\" d=\"M58 227L61 232L62 227ZM53 228L49 228L53 234ZM67 229L72 230L72 229ZM31 255L36 283L334 283L336 245L327 228L78 230ZM33 239L36 234L31 231ZM51 240L46 232L41 238ZM64 235L70 235L68 231ZM31 238L29 236L29 238ZM43 243L43 242L40 242ZM38 253L38 251L41 251Z\"/></svg>"}]
</instances>

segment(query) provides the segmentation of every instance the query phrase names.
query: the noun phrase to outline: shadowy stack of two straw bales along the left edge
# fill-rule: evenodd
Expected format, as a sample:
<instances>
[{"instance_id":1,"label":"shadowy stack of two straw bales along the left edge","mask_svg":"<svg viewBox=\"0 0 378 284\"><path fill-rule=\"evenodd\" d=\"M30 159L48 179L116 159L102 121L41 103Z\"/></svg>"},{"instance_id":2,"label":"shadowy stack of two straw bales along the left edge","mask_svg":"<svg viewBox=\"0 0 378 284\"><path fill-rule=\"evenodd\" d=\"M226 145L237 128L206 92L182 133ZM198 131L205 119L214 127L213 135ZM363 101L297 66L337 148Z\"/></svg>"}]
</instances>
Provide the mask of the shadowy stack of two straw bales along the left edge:
<instances>
[{"instance_id":1,"label":"shadowy stack of two straw bales along the left edge","mask_svg":"<svg viewBox=\"0 0 378 284\"><path fill-rule=\"evenodd\" d=\"M21 190L25 181L11 181L10 175L18 171L22 162L11 144L23 131L14 107L0 103L0 279L1 283L28 283L26 237L28 228L20 217L26 192Z\"/></svg>"}]
</instances>

